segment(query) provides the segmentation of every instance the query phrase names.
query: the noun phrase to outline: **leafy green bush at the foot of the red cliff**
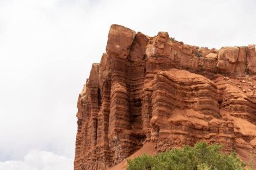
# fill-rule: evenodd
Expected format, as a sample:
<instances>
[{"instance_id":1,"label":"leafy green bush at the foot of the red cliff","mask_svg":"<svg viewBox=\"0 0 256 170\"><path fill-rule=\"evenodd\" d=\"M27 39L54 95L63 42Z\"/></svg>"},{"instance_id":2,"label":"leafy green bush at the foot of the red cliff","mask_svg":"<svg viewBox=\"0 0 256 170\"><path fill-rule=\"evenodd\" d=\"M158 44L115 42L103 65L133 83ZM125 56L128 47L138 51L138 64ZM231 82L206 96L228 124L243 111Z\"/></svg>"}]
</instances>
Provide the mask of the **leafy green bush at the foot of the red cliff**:
<instances>
[{"instance_id":1,"label":"leafy green bush at the foot of the red cliff","mask_svg":"<svg viewBox=\"0 0 256 170\"><path fill-rule=\"evenodd\" d=\"M236 153L230 155L221 152L218 144L207 145L198 142L194 147L183 146L155 156L143 155L132 161L127 160L128 170L242 170L245 163Z\"/></svg>"}]
</instances>

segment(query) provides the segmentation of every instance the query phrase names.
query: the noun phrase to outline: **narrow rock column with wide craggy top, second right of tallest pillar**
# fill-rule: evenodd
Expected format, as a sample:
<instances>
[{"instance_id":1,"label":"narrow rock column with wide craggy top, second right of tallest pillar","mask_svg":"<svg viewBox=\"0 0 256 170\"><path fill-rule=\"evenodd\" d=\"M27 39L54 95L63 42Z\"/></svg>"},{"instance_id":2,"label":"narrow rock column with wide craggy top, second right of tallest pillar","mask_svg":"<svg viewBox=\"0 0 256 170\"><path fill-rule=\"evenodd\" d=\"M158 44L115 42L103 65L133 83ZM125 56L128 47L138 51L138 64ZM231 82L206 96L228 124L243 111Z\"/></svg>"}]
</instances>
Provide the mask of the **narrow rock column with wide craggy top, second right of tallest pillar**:
<instances>
[{"instance_id":1,"label":"narrow rock column with wide craggy top, second right of tallest pillar","mask_svg":"<svg viewBox=\"0 0 256 170\"><path fill-rule=\"evenodd\" d=\"M143 82L142 99L142 126L146 134L146 140L151 140L152 131L158 131L158 127L152 127L150 120L152 118L152 81L160 70L168 70L173 66L173 60L170 58L171 46L170 38L167 32L159 32L158 35L150 39L146 47L146 69ZM153 129L153 130L152 130Z\"/></svg>"}]
</instances>

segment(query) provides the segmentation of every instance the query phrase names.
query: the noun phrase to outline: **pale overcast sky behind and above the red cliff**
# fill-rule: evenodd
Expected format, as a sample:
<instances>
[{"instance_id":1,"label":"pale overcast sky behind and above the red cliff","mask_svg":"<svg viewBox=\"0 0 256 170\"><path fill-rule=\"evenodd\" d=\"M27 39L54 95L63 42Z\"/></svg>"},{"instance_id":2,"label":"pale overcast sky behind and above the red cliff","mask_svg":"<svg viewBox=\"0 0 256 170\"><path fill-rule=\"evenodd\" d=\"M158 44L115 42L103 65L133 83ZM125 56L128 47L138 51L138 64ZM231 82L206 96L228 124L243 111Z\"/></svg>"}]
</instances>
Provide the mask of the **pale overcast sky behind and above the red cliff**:
<instances>
[{"instance_id":1,"label":"pale overcast sky behind and above the red cliff","mask_svg":"<svg viewBox=\"0 0 256 170\"><path fill-rule=\"evenodd\" d=\"M254 0L0 0L0 170L73 169L77 97L111 24L247 46L255 9Z\"/></svg>"}]
</instances>

